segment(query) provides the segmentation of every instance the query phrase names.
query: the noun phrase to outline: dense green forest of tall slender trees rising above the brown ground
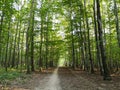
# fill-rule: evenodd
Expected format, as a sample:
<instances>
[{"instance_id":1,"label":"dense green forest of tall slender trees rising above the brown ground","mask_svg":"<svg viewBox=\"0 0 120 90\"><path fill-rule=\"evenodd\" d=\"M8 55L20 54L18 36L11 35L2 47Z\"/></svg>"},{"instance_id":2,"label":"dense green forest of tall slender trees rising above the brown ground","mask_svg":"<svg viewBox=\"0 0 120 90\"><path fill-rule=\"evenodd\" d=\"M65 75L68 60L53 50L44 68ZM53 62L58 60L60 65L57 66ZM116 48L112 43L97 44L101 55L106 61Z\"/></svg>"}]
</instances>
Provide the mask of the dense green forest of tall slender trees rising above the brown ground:
<instances>
[{"instance_id":1,"label":"dense green forest of tall slender trees rising above the brown ground","mask_svg":"<svg viewBox=\"0 0 120 90\"><path fill-rule=\"evenodd\" d=\"M119 78L119 18L120 0L0 0L0 84L55 68Z\"/></svg>"}]
</instances>

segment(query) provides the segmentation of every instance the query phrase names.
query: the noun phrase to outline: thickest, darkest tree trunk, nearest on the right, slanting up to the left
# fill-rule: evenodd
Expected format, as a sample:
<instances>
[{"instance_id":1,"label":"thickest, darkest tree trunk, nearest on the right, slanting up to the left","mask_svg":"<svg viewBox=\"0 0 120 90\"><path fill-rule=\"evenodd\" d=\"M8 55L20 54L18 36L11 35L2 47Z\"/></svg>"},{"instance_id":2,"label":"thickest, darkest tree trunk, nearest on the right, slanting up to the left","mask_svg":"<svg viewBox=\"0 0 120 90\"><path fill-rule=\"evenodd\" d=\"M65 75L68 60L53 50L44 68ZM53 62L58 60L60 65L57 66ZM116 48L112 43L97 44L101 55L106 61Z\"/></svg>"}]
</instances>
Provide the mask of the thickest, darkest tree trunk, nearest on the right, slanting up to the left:
<instances>
[{"instance_id":1,"label":"thickest, darkest tree trunk, nearest on the right, slanting up to the left","mask_svg":"<svg viewBox=\"0 0 120 90\"><path fill-rule=\"evenodd\" d=\"M97 4L98 33L99 33L101 58L102 58L102 64L103 64L103 70L104 70L104 80L111 80L110 72L108 70L107 62L106 62L107 59L106 59L104 42L103 42L102 22L101 22L100 2L99 2L99 0L96 0L96 4Z\"/></svg>"}]
</instances>

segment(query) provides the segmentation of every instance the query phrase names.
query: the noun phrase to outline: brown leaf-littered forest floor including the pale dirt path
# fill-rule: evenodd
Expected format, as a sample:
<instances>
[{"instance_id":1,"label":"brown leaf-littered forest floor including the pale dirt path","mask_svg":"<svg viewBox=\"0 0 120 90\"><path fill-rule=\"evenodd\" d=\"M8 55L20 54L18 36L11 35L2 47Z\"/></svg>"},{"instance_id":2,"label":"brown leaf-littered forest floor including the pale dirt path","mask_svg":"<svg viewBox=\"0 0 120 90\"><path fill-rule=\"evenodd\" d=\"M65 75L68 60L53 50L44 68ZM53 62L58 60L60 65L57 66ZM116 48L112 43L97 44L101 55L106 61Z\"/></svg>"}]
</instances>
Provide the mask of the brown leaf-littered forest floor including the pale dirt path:
<instances>
[{"instance_id":1,"label":"brown leaf-littered forest floor including the pale dirt path","mask_svg":"<svg viewBox=\"0 0 120 90\"><path fill-rule=\"evenodd\" d=\"M35 72L11 81L0 90L120 90L120 76L103 81L99 74L61 67Z\"/></svg>"}]
</instances>

